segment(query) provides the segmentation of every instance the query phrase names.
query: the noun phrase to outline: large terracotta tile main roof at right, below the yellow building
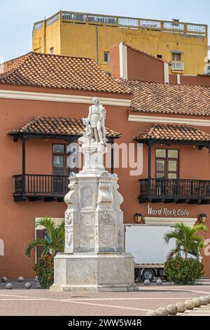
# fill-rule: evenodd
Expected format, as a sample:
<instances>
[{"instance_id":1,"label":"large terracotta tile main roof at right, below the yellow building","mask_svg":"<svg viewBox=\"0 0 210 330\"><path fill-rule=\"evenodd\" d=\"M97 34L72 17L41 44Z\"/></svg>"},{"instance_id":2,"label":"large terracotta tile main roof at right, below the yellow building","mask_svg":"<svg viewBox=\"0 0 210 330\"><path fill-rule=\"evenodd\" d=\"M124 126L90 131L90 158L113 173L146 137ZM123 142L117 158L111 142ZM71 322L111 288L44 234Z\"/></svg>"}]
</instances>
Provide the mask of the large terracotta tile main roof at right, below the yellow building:
<instances>
[{"instance_id":1,"label":"large terracotta tile main roof at right, below the yellow building","mask_svg":"<svg viewBox=\"0 0 210 330\"><path fill-rule=\"evenodd\" d=\"M210 116L210 86L121 80L132 89L131 111Z\"/></svg>"}]
</instances>

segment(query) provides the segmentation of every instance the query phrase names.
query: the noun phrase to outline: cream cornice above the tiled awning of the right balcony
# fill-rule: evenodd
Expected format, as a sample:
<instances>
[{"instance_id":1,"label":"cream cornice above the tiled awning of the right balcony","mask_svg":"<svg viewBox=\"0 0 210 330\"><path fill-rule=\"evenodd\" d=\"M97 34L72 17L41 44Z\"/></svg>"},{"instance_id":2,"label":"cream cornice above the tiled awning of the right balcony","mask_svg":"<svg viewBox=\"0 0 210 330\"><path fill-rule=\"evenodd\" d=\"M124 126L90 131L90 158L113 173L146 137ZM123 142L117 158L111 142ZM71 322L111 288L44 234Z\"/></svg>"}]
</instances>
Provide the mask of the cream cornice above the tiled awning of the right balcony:
<instances>
[{"instance_id":1,"label":"cream cornice above the tiled awning of the right balcony","mask_svg":"<svg viewBox=\"0 0 210 330\"><path fill-rule=\"evenodd\" d=\"M168 124L188 124L194 126L210 126L210 119L177 118L177 117L159 117L159 116L141 116L140 114L129 114L128 121L137 121L140 123L168 123Z\"/></svg>"}]
</instances>

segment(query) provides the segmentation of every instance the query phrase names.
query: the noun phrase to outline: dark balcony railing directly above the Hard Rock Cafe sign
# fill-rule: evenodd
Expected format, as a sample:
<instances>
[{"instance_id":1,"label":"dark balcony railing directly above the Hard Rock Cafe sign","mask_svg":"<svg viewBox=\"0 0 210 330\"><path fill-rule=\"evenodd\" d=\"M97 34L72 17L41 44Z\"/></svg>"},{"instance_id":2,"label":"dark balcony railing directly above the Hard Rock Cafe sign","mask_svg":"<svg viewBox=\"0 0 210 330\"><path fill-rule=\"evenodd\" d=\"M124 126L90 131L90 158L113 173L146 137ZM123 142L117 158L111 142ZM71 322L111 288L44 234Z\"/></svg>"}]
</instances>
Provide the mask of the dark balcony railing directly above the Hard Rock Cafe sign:
<instances>
[{"instance_id":1,"label":"dark balcony railing directly above the Hard Rock Cafe sign","mask_svg":"<svg viewBox=\"0 0 210 330\"><path fill-rule=\"evenodd\" d=\"M140 179L139 203L210 204L210 180Z\"/></svg>"}]
</instances>

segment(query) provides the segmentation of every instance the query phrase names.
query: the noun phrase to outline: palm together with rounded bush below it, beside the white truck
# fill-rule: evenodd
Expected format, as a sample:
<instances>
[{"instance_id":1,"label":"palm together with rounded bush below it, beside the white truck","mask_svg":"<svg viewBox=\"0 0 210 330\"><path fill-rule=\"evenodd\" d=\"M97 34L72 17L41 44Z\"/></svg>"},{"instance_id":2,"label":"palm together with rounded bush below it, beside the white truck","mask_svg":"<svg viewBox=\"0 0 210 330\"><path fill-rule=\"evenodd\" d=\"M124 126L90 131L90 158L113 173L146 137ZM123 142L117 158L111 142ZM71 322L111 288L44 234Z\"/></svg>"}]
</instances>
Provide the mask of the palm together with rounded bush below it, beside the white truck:
<instances>
[{"instance_id":1,"label":"palm together with rounded bush below it, beside the white truck","mask_svg":"<svg viewBox=\"0 0 210 330\"><path fill-rule=\"evenodd\" d=\"M165 274L169 281L175 284L192 284L202 276L204 266L200 262L200 253L204 249L204 237L197 235L201 230L207 232L208 229L202 224L190 227L177 223L174 230L165 234L167 244L170 239L176 239L176 246L170 251L165 263ZM188 258L188 253L195 258Z\"/></svg>"}]
</instances>

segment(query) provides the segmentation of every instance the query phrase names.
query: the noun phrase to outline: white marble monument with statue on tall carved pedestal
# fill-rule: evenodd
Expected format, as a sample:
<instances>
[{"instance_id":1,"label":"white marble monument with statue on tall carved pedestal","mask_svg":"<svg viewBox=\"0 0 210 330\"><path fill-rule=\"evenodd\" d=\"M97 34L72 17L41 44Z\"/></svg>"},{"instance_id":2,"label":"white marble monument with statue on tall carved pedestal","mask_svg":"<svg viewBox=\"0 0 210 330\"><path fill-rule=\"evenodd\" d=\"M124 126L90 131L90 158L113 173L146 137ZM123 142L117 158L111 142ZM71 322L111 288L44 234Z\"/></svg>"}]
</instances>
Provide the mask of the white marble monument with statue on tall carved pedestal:
<instances>
[{"instance_id":1,"label":"white marble monument with statue on tall carved pedestal","mask_svg":"<svg viewBox=\"0 0 210 330\"><path fill-rule=\"evenodd\" d=\"M106 110L93 98L78 139L83 170L71 173L64 197L65 250L55 256L52 291L132 291L134 258L125 253L118 176L105 171Z\"/></svg>"}]
</instances>

